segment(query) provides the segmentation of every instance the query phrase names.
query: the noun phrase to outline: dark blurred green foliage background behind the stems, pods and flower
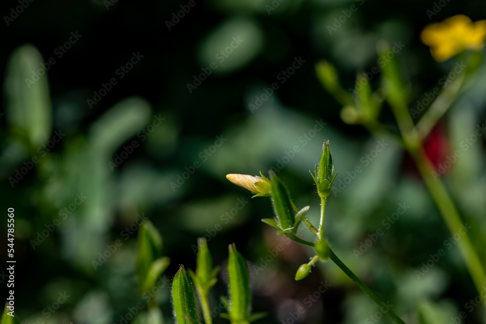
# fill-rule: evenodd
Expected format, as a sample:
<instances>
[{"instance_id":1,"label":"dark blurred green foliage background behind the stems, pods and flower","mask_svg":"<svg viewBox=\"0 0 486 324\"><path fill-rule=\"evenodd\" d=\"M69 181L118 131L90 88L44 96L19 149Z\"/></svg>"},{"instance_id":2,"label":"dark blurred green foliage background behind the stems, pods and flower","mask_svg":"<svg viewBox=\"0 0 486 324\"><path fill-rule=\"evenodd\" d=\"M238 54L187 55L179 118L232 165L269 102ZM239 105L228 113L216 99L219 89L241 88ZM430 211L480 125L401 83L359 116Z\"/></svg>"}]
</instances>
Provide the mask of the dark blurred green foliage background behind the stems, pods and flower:
<instances>
[{"instance_id":1,"label":"dark blurred green foliage background behind the stems, pods and flower","mask_svg":"<svg viewBox=\"0 0 486 324\"><path fill-rule=\"evenodd\" d=\"M411 80L413 102L422 100L450 66L433 60L420 31L461 13L483 19L485 2L35 0L16 14L20 2L1 3L0 186L1 209L15 208L22 323L121 323L137 302L146 305L135 277L144 218L171 258L157 294L166 323L172 276L179 264L195 268L196 239L205 235L223 266L211 309L226 292L227 246L235 242L249 262L254 310L269 314L259 323L390 323L334 264L318 263L295 282L311 250L260 222L272 217L268 199L251 200L226 180L278 170L297 206L311 206L315 225L308 171L324 139L339 172L335 187L342 184L325 222L336 254L407 323L419 323L417 309L436 321L427 323L449 323L461 311L465 323L485 323L481 306L469 312L478 293L456 246L444 243L450 233L412 160L394 139L344 123L314 69L326 59L353 87L357 72L380 66L377 42L397 42L404 46L393 59ZM461 142L485 121L485 90L483 66L426 143L437 166L463 152L442 178L483 261L485 140L468 150ZM389 109L381 119L395 127ZM377 141L386 144L381 152ZM409 206L401 215L399 204ZM5 241L6 221L0 227ZM377 229L383 234L361 246ZM360 246L363 255L353 253ZM425 272L422 262L441 248L445 256ZM6 248L1 255L7 259ZM69 297L51 312L60 293Z\"/></svg>"}]
</instances>

